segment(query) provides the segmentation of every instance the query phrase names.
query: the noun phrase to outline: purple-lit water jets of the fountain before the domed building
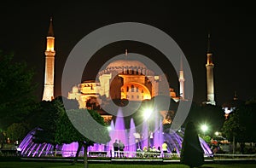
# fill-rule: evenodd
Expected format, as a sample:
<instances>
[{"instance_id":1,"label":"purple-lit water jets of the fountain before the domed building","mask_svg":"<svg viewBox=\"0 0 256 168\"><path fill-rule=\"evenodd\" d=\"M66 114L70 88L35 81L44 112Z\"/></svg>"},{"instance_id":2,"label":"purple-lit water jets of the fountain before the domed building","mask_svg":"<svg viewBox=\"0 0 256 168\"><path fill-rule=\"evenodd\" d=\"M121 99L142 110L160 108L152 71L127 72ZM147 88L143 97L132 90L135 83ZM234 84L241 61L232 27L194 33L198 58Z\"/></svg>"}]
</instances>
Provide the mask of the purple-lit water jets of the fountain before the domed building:
<instances>
[{"instance_id":1,"label":"purple-lit water jets of the fountain before the domed building","mask_svg":"<svg viewBox=\"0 0 256 168\"><path fill-rule=\"evenodd\" d=\"M154 119L154 120L153 120ZM169 152L172 152L173 148L177 149L177 154L181 151L181 144L183 142L183 130L179 130L177 132L170 130L169 133L163 132L162 120L160 118L153 117L150 122L154 122L153 126L150 125L148 129L148 122L144 121L141 130L141 142L138 143L138 147L143 150L143 147L148 147L148 130L153 131L153 139L149 142L149 146L154 146L155 148L160 147L164 141L168 144ZM134 157L135 151L137 150L137 143L135 135L137 134L137 126L134 123L134 120L131 119L130 128L125 129L125 119L123 117L123 113L121 110L118 111L117 118L115 122L111 121L111 130L109 130L109 136L111 137L111 141L106 145L104 144L95 144L93 147L88 148L88 151L91 152L102 152L107 151L108 156L113 156L113 142L118 139L124 142L125 144L125 154L126 157ZM49 143L34 143L32 142L32 135L34 134L36 129L32 130L27 134L27 136L20 143L19 148L21 149L21 154L24 156L30 157L40 157L40 156L53 156L54 147ZM212 151L208 147L207 143L200 138L201 147L203 148L206 155L211 155ZM73 142L70 144L63 144L56 146L57 154L61 154L62 157L73 157L76 154L78 148L78 143ZM83 148L80 154L83 154Z\"/></svg>"}]
</instances>

